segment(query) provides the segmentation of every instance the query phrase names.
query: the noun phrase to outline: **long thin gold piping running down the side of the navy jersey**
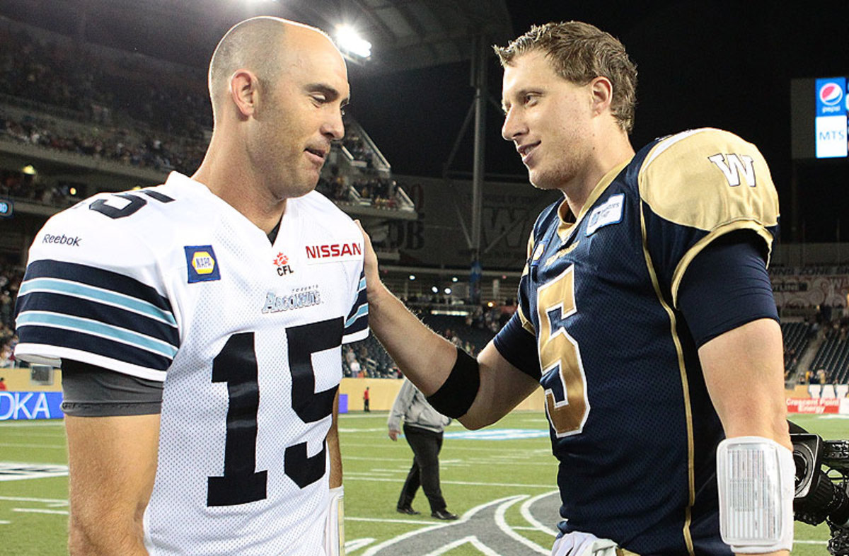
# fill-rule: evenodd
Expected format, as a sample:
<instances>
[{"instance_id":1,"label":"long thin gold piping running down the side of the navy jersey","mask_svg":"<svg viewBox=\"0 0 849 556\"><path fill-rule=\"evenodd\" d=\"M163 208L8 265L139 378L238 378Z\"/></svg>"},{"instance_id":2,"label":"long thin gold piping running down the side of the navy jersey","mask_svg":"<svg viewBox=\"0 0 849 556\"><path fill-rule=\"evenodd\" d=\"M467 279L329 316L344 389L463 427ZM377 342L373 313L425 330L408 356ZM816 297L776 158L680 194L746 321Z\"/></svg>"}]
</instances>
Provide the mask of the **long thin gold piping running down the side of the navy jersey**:
<instances>
[{"instance_id":1,"label":"long thin gold piping running down the side of the navy jersey","mask_svg":"<svg viewBox=\"0 0 849 556\"><path fill-rule=\"evenodd\" d=\"M663 310L666 311L666 315L669 317L669 334L672 337L672 343L675 345L675 353L678 356L678 373L681 377L681 389L683 390L684 402L684 418L687 427L687 485L689 488L687 507L684 508L684 523L682 528L682 534L684 537L684 542L687 545L688 556L695 556L695 551L693 548L693 535L690 532L692 508L695 503L695 439L693 434L693 407L690 403L687 367L684 364L681 339L678 337L678 326L675 319L675 312L672 311L672 307L669 306L663 299L663 294L661 293L661 283L657 279L657 274L655 273L655 265L652 263L651 255L649 254L649 245L646 239L645 232L645 215L643 212L642 205L640 206L639 214L640 230L643 236L643 255L645 257L645 265L649 271L649 276L651 277L651 285L655 289L655 295L657 295L657 300L663 307Z\"/></svg>"}]
</instances>

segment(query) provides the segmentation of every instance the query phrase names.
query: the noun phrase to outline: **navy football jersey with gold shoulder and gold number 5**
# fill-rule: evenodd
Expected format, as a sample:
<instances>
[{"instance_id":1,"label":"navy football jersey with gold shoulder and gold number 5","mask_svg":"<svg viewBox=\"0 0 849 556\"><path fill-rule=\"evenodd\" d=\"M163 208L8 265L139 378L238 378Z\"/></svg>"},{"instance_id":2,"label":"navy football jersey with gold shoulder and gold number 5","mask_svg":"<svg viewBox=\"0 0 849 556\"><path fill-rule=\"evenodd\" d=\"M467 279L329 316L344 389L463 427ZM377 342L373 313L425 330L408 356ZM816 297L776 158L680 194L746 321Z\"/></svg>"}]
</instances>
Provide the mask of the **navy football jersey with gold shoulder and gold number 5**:
<instances>
[{"instance_id":1,"label":"navy football jersey with gold shoulder and gold number 5","mask_svg":"<svg viewBox=\"0 0 849 556\"><path fill-rule=\"evenodd\" d=\"M580 214L564 200L537 218L521 326L496 347L515 361L509 351L536 341L522 370L545 392L561 531L644 556L731 554L718 525L722 425L678 286L726 233L750 231L768 257L778 218L762 155L715 129L656 140L604 176Z\"/></svg>"}]
</instances>

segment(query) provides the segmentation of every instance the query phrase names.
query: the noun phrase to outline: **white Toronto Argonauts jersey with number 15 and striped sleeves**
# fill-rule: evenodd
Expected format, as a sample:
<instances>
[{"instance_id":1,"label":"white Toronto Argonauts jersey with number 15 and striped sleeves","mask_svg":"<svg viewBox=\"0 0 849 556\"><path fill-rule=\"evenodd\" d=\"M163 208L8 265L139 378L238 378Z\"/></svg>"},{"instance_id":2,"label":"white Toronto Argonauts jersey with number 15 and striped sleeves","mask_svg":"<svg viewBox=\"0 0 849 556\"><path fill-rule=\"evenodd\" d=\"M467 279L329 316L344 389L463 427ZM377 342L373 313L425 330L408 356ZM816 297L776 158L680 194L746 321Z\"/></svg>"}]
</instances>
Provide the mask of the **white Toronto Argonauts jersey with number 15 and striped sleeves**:
<instances>
[{"instance_id":1,"label":"white Toronto Argonauts jersey with number 15 and striped sleeves","mask_svg":"<svg viewBox=\"0 0 849 556\"><path fill-rule=\"evenodd\" d=\"M368 334L363 236L321 194L274 244L201 183L98 194L30 250L15 354L164 380L151 554L323 554L340 346Z\"/></svg>"}]
</instances>

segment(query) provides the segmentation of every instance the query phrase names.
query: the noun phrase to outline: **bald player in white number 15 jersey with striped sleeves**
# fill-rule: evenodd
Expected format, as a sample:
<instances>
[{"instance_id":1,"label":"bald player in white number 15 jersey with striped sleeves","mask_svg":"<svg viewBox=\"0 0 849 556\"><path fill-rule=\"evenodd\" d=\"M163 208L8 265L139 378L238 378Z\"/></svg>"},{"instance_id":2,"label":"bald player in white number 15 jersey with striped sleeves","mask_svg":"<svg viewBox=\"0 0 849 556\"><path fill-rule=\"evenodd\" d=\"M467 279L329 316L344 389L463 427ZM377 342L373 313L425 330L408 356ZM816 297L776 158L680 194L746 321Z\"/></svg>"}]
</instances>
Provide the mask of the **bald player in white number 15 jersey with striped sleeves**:
<instances>
[{"instance_id":1,"label":"bald player in white number 15 jersey with striped sleeves","mask_svg":"<svg viewBox=\"0 0 849 556\"><path fill-rule=\"evenodd\" d=\"M63 368L71 554L340 552L325 524L340 346L368 334L363 236L313 188L344 134L345 61L322 31L253 18L209 87L193 177L95 195L30 251L16 354Z\"/></svg>"}]
</instances>

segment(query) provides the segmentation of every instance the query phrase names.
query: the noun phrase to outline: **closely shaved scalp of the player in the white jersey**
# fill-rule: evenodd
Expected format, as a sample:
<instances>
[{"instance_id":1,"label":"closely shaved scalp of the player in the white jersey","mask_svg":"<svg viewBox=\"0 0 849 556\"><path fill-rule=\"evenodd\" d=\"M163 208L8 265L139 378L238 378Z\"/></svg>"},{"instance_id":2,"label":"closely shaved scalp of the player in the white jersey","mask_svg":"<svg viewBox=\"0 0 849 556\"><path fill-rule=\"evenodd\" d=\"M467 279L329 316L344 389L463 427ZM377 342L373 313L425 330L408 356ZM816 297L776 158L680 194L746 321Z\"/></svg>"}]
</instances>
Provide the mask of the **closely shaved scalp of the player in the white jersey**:
<instances>
[{"instance_id":1,"label":"closely shaved scalp of the player in the white jersey","mask_svg":"<svg viewBox=\"0 0 849 556\"><path fill-rule=\"evenodd\" d=\"M209 89L213 114L228 94L229 81L236 70L252 71L261 87L270 91L286 64L285 41L291 34L305 32L319 33L330 40L320 29L277 17L260 16L233 25L218 42L210 61Z\"/></svg>"}]
</instances>

